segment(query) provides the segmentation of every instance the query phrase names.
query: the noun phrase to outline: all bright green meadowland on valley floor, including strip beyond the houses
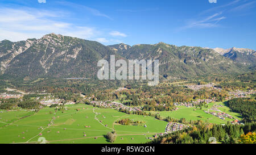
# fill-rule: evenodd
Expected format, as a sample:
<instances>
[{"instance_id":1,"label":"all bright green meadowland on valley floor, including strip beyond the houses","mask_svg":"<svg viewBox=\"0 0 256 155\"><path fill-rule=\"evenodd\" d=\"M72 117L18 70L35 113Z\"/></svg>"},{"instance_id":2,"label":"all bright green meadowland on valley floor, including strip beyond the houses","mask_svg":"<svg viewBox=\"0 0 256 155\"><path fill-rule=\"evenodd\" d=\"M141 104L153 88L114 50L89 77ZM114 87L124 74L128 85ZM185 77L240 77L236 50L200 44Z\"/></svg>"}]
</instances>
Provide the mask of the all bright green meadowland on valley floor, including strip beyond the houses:
<instances>
[{"instance_id":1,"label":"all bright green meadowland on valley floor, including strip beyond the houses","mask_svg":"<svg viewBox=\"0 0 256 155\"><path fill-rule=\"evenodd\" d=\"M241 119L241 115L231 112L223 102L209 103L222 104L221 111ZM114 109L96 108L86 104L68 105L68 110L55 111L55 108L43 108L38 112L27 110L6 111L0 113L0 143L41 143L40 137L46 143L109 143L106 133L115 131L117 138L114 143L146 143L155 133L163 133L167 122L155 119L152 116L129 115ZM204 120L209 123L226 123L207 114L203 108L188 108L179 106L177 111L153 112L160 116L171 118L185 118L189 120ZM134 121L143 121L140 125L121 125L117 120L129 118ZM53 121L53 123L51 123ZM146 125L146 127L144 127Z\"/></svg>"}]
</instances>

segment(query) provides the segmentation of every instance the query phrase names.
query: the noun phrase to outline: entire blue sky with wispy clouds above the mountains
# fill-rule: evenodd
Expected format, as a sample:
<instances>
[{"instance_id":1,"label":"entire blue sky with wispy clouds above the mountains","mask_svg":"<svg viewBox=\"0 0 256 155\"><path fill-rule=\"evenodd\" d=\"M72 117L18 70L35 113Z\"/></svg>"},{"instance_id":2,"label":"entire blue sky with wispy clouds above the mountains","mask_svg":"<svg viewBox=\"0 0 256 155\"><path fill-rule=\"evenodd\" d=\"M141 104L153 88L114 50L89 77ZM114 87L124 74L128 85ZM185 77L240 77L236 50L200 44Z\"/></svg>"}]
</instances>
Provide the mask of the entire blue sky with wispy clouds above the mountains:
<instances>
[{"instance_id":1,"label":"entire blue sky with wispy clouds above the mountains","mask_svg":"<svg viewBox=\"0 0 256 155\"><path fill-rule=\"evenodd\" d=\"M126 43L256 50L254 0L0 1L0 40L60 33Z\"/></svg>"}]
</instances>

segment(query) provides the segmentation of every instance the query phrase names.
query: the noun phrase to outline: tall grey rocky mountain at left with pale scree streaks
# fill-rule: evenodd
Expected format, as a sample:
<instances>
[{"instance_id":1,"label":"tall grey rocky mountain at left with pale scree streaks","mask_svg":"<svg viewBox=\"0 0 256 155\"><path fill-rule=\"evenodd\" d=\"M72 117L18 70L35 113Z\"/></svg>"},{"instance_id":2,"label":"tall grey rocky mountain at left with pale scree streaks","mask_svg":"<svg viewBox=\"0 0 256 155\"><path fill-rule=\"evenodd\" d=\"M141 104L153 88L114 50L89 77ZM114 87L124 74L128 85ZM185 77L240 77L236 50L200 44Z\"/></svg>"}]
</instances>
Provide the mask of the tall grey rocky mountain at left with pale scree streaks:
<instances>
[{"instance_id":1,"label":"tall grey rocky mountain at left with pale scree streaks","mask_svg":"<svg viewBox=\"0 0 256 155\"><path fill-rule=\"evenodd\" d=\"M2 41L1 72L21 77L90 77L97 61L115 54L96 41L51 33L40 39Z\"/></svg>"}]
</instances>

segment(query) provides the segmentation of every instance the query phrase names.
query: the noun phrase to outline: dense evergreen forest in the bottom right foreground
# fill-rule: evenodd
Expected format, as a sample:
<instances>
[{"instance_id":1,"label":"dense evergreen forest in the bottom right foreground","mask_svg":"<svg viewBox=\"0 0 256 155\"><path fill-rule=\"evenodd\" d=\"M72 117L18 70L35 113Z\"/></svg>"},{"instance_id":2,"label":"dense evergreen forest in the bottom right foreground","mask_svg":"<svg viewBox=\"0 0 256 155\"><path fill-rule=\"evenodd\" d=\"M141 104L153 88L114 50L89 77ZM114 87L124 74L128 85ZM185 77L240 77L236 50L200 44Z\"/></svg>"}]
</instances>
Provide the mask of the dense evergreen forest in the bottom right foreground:
<instances>
[{"instance_id":1,"label":"dense evergreen forest in the bottom right foreground","mask_svg":"<svg viewBox=\"0 0 256 155\"><path fill-rule=\"evenodd\" d=\"M217 143L222 144L245 143L245 141L247 141L245 135L248 133L250 133L249 135L253 135L253 133L255 135L255 127L255 123L246 123L245 125L233 125L228 123L221 125L200 122L194 124L193 127L160 136L149 143L208 144L213 142L212 140L216 140Z\"/></svg>"}]
</instances>

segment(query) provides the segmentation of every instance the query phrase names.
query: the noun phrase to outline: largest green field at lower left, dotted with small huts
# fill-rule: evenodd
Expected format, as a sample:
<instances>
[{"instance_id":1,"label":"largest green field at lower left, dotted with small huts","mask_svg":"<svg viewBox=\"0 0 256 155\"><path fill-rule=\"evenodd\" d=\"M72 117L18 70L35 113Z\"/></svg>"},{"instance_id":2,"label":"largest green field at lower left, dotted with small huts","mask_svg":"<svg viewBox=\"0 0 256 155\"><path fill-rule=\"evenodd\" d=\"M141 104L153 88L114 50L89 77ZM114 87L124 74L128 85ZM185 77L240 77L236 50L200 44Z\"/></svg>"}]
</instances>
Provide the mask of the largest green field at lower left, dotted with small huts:
<instances>
[{"instance_id":1,"label":"largest green field at lower left, dotted with small huts","mask_svg":"<svg viewBox=\"0 0 256 155\"><path fill-rule=\"evenodd\" d=\"M34 115L0 128L0 143L40 143L39 137L44 137L47 143L109 143L104 135L113 129L117 133L115 143L146 143L146 137L164 132L167 124L150 116L127 115L113 109L93 109L93 106L86 104L67 107L68 110L63 113L54 108L43 108ZM10 114L4 111L0 118ZM147 127L114 123L128 117L143 120ZM54 123L50 124L52 120Z\"/></svg>"}]
</instances>

